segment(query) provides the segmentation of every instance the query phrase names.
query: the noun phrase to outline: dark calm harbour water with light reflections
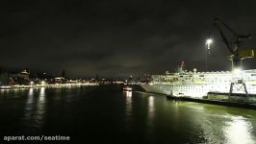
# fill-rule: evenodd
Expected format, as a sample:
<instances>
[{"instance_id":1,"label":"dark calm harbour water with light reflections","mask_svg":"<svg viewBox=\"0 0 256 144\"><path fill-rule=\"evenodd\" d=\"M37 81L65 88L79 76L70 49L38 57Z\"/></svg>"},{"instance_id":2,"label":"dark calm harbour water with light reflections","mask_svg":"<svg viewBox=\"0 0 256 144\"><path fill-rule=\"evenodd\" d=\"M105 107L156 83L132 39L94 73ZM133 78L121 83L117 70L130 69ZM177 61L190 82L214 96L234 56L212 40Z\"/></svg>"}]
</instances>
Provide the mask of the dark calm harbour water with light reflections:
<instances>
[{"instance_id":1,"label":"dark calm harbour water with light reflections","mask_svg":"<svg viewBox=\"0 0 256 144\"><path fill-rule=\"evenodd\" d=\"M174 102L122 85L0 91L3 135L72 143L256 143L256 110ZM69 141L70 142L70 141Z\"/></svg>"}]
</instances>

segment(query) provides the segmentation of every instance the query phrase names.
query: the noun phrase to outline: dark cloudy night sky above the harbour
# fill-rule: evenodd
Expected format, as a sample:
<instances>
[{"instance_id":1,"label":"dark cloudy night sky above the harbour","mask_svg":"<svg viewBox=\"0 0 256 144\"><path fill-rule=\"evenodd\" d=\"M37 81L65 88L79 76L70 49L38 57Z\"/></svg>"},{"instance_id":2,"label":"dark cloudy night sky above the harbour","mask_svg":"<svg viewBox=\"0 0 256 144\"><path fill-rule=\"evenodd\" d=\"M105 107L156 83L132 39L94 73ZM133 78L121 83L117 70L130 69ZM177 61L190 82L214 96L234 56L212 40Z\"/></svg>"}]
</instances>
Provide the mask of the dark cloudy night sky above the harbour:
<instances>
[{"instance_id":1,"label":"dark cloudy night sky above the harbour","mask_svg":"<svg viewBox=\"0 0 256 144\"><path fill-rule=\"evenodd\" d=\"M0 67L6 69L140 76L171 71L184 60L186 69L202 71L211 32L208 67L229 70L216 15L239 34L255 34L244 47L256 47L255 0L8 0L0 14ZM243 60L247 69L254 63Z\"/></svg>"}]
</instances>

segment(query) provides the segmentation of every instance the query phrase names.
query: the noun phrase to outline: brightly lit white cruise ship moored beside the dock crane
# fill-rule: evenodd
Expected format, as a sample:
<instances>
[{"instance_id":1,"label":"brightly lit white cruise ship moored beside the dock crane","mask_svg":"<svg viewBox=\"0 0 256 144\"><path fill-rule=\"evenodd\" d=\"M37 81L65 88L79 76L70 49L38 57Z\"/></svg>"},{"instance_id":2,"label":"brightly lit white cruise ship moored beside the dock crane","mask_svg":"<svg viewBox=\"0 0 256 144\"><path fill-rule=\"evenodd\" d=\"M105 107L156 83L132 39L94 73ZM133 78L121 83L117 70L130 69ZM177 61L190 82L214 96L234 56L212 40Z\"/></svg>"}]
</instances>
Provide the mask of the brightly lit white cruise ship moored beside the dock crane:
<instances>
[{"instance_id":1,"label":"brightly lit white cruise ship moored beside the dock crane","mask_svg":"<svg viewBox=\"0 0 256 144\"><path fill-rule=\"evenodd\" d=\"M209 92L255 95L256 69L197 72L183 70L163 75L153 75L149 84L141 84L147 92L172 96L203 98Z\"/></svg>"}]
</instances>

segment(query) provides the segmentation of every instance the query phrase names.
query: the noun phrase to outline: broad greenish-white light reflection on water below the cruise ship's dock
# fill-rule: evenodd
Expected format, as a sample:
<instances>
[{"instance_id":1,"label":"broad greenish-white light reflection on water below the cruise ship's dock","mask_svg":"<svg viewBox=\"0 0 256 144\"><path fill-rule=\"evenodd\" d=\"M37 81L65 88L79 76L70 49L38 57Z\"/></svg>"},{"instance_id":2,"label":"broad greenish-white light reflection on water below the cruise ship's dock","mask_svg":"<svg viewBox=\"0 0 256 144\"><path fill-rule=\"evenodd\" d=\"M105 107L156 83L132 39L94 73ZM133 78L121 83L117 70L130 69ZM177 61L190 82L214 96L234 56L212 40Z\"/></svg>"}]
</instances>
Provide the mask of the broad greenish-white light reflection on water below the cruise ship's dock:
<instances>
[{"instance_id":1,"label":"broad greenish-white light reflection on water below the cruise ship's dock","mask_svg":"<svg viewBox=\"0 0 256 144\"><path fill-rule=\"evenodd\" d=\"M194 116L191 115L192 119L188 122L196 127L194 130L201 129L201 132L197 130L196 134L201 137L203 143L256 143L256 135L253 133L256 117L249 114L249 111L253 110L247 109L246 111L243 108L226 108L197 103L181 104L183 107L191 108L192 112L197 111ZM247 112L249 116L243 112ZM180 114L180 111L177 113Z\"/></svg>"}]
</instances>

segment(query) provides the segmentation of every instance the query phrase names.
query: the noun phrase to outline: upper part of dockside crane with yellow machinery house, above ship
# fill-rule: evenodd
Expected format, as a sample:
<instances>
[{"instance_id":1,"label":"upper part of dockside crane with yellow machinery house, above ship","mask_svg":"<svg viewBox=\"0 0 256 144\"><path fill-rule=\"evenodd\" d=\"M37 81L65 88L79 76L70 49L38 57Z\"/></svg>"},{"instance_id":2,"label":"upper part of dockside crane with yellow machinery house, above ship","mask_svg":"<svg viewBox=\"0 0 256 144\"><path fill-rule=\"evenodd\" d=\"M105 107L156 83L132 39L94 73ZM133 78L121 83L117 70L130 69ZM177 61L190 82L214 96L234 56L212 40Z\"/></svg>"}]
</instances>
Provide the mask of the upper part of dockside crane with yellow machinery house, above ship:
<instances>
[{"instance_id":1,"label":"upper part of dockside crane with yellow machinery house, above ship","mask_svg":"<svg viewBox=\"0 0 256 144\"><path fill-rule=\"evenodd\" d=\"M233 41L229 41L228 38L224 35L220 24L222 24L222 26L224 26L232 34L232 36L234 36ZM217 27L220 36L222 37L225 45L231 53L229 60L232 61L232 70L242 70L242 60L254 57L254 51L252 49L241 50L241 43L243 39L251 38L251 35L239 35L238 33L234 32L227 24L225 24L218 16L215 18L215 26Z\"/></svg>"}]
</instances>

